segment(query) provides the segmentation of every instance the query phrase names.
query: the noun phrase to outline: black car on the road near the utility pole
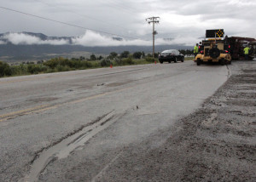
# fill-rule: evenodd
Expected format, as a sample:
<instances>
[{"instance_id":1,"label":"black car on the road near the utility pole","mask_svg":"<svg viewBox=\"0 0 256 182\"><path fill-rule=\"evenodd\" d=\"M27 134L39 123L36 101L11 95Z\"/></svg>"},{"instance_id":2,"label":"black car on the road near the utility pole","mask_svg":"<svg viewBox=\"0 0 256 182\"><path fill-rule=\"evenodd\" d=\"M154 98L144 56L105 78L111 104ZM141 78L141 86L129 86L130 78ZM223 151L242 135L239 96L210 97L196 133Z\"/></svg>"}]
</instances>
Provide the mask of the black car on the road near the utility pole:
<instances>
[{"instance_id":1,"label":"black car on the road near the utility pole","mask_svg":"<svg viewBox=\"0 0 256 182\"><path fill-rule=\"evenodd\" d=\"M181 54L178 50L176 49L170 49L170 50L164 50L161 52L158 56L158 60L160 61L160 64L163 62L177 62L177 61L184 61L184 55Z\"/></svg>"}]
</instances>

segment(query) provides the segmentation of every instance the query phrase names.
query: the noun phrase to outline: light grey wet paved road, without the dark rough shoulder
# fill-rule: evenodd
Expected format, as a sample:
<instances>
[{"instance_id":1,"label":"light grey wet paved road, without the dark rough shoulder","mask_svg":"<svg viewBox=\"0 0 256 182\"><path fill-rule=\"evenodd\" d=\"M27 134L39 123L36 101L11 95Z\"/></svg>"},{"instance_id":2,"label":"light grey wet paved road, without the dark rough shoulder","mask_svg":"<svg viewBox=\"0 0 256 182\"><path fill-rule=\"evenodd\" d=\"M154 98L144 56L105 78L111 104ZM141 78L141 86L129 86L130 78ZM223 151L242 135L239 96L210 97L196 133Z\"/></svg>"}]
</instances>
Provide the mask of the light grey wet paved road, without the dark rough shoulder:
<instances>
[{"instance_id":1,"label":"light grey wet paved road, without the dark rough shoulder","mask_svg":"<svg viewBox=\"0 0 256 182\"><path fill-rule=\"evenodd\" d=\"M185 61L2 78L0 181L100 180L133 145L171 133L229 76L227 66Z\"/></svg>"}]
</instances>

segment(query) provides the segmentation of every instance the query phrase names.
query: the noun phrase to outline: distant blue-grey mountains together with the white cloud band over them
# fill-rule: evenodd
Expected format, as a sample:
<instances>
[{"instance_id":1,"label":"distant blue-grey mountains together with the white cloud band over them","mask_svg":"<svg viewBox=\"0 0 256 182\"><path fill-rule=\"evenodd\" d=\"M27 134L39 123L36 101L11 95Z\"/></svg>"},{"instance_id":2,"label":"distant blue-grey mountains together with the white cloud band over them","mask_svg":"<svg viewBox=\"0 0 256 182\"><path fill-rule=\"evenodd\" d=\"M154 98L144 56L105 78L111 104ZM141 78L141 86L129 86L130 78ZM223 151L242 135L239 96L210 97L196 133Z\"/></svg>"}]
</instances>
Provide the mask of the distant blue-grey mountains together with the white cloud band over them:
<instances>
[{"instance_id":1,"label":"distant blue-grey mountains together with the white cloud band over them","mask_svg":"<svg viewBox=\"0 0 256 182\"><path fill-rule=\"evenodd\" d=\"M193 37L157 38L155 51L166 49L192 49L199 40ZM86 31L80 37L48 37L42 33L21 32L0 34L0 60L15 62L48 60L53 57L79 57L90 54L108 55L111 52L152 52L152 40L103 36Z\"/></svg>"}]
</instances>

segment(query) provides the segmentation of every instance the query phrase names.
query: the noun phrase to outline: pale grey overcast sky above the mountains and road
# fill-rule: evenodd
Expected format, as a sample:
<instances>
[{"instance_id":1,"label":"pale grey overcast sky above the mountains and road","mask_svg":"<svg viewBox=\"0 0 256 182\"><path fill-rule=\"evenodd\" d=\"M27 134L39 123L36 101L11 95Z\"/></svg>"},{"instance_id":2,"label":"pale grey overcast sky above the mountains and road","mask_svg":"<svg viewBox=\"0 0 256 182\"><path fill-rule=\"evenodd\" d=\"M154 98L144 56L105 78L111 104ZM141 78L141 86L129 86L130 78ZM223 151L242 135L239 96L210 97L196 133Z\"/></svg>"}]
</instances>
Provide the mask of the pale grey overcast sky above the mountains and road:
<instances>
[{"instance_id":1,"label":"pale grey overcast sky above the mountains and road","mask_svg":"<svg viewBox=\"0 0 256 182\"><path fill-rule=\"evenodd\" d=\"M137 38L122 44L149 45L152 25L159 16L156 44L193 45L206 29L224 29L228 36L256 38L256 0L0 0L0 6L96 30L62 25L7 9L0 9L0 33L41 32L47 36L79 37L77 44L115 45L108 34ZM17 37L17 35L16 35ZM20 38L20 37L19 37ZM27 37L22 37L27 38ZM169 38L172 41L166 42ZM16 39L15 39L16 40ZM37 41L37 40L34 40ZM58 43L56 43L58 44ZM116 44L118 45L118 44Z\"/></svg>"}]
</instances>

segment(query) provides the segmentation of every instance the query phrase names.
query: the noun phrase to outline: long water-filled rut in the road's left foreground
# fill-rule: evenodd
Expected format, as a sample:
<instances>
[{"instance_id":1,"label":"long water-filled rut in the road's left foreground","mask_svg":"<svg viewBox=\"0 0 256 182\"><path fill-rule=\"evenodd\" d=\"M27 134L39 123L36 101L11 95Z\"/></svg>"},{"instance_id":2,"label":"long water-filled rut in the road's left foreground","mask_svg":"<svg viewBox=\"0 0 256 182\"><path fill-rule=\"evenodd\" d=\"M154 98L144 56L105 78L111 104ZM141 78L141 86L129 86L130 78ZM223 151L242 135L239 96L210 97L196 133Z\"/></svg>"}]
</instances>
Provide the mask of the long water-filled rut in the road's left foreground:
<instances>
[{"instance_id":1,"label":"long water-filled rut in the road's left foreground","mask_svg":"<svg viewBox=\"0 0 256 182\"><path fill-rule=\"evenodd\" d=\"M98 122L83 128L81 131L71 135L67 139L63 139L57 145L42 151L38 158L32 163L32 170L27 181L38 181L40 173L44 172L44 169L47 167L49 162L66 158L72 151L80 149L86 141L101 132L103 129L108 128L108 126L113 124L113 122L116 122L122 116L123 115L114 115L114 112L112 111L107 116L102 117Z\"/></svg>"}]
</instances>

